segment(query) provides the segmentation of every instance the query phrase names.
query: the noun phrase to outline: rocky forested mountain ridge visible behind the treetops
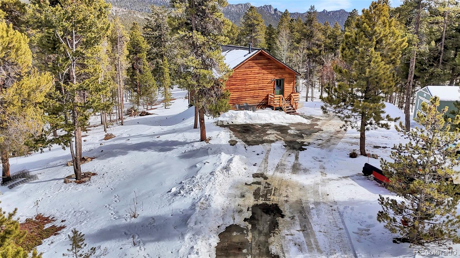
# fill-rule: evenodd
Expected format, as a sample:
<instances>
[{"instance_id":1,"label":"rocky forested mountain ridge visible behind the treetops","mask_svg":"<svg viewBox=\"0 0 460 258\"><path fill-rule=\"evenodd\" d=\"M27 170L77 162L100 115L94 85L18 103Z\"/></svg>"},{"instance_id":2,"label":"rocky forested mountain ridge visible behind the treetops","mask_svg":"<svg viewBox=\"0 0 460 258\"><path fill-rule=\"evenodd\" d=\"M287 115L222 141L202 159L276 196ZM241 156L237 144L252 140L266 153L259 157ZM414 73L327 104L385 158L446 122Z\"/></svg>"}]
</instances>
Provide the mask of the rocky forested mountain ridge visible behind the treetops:
<instances>
[{"instance_id":1,"label":"rocky forested mountain ridge visible behind the treetops","mask_svg":"<svg viewBox=\"0 0 460 258\"><path fill-rule=\"evenodd\" d=\"M143 20L141 16L143 15L143 12L150 12L150 6L155 5L155 6L166 6L169 4L169 0L107 0L108 2L112 3L114 8L112 10L112 13L115 13L115 15L120 15L123 20L132 20L132 19L138 19L138 22ZM251 6L250 3L245 3L245 4L236 4L236 5L228 5L224 8L223 13L224 16L236 25L240 26L241 18L246 12L249 7ZM271 24L273 26L278 25L278 20L280 19L282 15L283 10L278 10L274 8L271 5L264 5L264 6L259 6L256 7L257 12L262 15L262 19L264 19L265 24ZM133 12L137 11L137 12ZM137 13L137 14L136 14ZM305 20L305 14L300 13L300 12L293 12L291 13L291 17L297 18L301 17L302 20ZM343 28L344 22L346 18L348 17L349 12L345 10L338 10L338 11L318 11L317 12L317 19L318 22L324 23L324 22L329 22L330 24L334 24L335 22L339 22L340 26ZM132 22L127 22L127 25ZM129 28L129 26L128 26Z\"/></svg>"}]
</instances>

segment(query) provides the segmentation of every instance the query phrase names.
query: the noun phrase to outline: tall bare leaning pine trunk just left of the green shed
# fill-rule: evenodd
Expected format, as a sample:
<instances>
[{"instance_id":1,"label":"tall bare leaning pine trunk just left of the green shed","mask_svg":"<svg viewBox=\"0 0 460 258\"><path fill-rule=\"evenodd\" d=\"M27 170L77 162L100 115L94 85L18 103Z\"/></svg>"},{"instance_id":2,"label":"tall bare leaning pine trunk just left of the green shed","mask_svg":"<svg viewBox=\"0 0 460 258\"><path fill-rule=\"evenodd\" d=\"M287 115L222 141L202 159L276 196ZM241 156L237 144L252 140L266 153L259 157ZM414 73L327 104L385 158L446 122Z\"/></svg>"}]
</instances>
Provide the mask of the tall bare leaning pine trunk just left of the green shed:
<instances>
[{"instance_id":1,"label":"tall bare leaning pine trunk just left of the green shed","mask_svg":"<svg viewBox=\"0 0 460 258\"><path fill-rule=\"evenodd\" d=\"M415 16L414 21L414 33L417 38L419 39L419 27L420 27L420 15L422 9L422 0L417 0L417 14ZM412 86L414 84L414 71L415 71L415 57L417 55L417 45L415 43L414 49L412 50L410 63L409 63L409 74L406 83L406 103L404 106L404 118L405 118L405 129L406 131L410 130L410 105L412 103Z\"/></svg>"}]
</instances>

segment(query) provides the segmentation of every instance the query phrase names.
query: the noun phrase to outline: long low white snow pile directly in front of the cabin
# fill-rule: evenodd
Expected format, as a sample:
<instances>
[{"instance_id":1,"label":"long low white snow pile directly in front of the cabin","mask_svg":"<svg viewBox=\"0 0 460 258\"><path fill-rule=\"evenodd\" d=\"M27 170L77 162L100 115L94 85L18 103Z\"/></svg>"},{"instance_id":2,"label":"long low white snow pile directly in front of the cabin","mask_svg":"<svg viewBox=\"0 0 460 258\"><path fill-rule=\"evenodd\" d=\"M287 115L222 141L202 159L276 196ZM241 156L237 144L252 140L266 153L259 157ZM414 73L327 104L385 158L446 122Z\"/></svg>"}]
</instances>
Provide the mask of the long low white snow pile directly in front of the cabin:
<instances>
[{"instance_id":1,"label":"long low white snow pile directly in front of the cabin","mask_svg":"<svg viewBox=\"0 0 460 258\"><path fill-rule=\"evenodd\" d=\"M230 110L223 113L217 120L228 123L310 123L309 120L301 116L288 115L285 112L273 111L271 109L258 110L256 112Z\"/></svg>"}]
</instances>

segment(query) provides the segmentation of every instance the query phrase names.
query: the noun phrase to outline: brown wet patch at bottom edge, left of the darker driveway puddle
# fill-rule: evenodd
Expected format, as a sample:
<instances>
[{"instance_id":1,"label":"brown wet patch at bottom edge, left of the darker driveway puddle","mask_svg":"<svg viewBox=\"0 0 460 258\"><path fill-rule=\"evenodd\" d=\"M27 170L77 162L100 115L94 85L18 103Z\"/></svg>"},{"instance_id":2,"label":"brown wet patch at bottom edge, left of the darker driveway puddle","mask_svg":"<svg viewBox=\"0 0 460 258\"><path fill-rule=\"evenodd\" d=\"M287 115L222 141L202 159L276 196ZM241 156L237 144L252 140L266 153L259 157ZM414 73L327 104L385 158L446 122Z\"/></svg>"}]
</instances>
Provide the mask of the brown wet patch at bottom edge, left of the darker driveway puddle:
<instances>
[{"instance_id":1,"label":"brown wet patch at bottom edge, left of the darker driveway puddle","mask_svg":"<svg viewBox=\"0 0 460 258\"><path fill-rule=\"evenodd\" d=\"M219 234L219 243L216 247L216 258L247 258L251 255L249 240L247 239L246 228L236 224L226 227L224 232Z\"/></svg>"}]
</instances>

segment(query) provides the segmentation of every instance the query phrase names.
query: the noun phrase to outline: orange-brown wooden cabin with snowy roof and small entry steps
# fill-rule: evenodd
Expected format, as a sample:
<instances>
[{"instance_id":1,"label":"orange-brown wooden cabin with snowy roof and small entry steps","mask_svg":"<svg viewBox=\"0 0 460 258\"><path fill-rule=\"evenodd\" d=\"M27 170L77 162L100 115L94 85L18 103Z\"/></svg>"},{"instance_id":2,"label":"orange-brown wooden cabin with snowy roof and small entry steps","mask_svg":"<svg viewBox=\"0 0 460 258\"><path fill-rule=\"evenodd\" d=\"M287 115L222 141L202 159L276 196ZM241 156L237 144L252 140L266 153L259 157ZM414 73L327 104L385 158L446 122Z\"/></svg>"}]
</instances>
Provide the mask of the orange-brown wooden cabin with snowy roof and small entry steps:
<instances>
[{"instance_id":1,"label":"orange-brown wooden cabin with snowy roof and small entry steps","mask_svg":"<svg viewBox=\"0 0 460 258\"><path fill-rule=\"evenodd\" d=\"M225 83L230 90L232 109L280 107L295 112L299 93L295 92L295 76L300 73L259 48L223 45L224 62L233 69Z\"/></svg>"}]
</instances>

